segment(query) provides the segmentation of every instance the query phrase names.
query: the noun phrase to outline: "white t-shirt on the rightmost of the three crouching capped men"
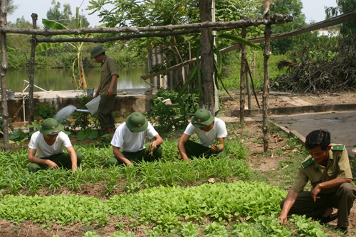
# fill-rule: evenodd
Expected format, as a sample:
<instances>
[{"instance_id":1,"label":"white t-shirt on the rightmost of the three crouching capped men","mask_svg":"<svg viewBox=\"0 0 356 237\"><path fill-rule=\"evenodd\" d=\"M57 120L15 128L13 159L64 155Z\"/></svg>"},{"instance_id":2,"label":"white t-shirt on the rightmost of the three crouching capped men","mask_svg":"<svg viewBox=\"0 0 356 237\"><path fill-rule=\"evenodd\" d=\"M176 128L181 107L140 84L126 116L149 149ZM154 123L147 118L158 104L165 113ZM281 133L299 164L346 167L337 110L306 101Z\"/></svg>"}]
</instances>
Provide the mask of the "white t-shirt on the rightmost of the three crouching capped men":
<instances>
[{"instance_id":1,"label":"white t-shirt on the rightmost of the three crouching capped men","mask_svg":"<svg viewBox=\"0 0 356 237\"><path fill-rule=\"evenodd\" d=\"M184 133L186 135L192 136L193 133L197 133L199 137L199 143L204 147L209 147L214 144L217 138L222 138L227 136L225 122L217 117L215 117L215 122L213 128L209 132L200 130L199 127L194 127L192 122L185 129Z\"/></svg>"}]
</instances>

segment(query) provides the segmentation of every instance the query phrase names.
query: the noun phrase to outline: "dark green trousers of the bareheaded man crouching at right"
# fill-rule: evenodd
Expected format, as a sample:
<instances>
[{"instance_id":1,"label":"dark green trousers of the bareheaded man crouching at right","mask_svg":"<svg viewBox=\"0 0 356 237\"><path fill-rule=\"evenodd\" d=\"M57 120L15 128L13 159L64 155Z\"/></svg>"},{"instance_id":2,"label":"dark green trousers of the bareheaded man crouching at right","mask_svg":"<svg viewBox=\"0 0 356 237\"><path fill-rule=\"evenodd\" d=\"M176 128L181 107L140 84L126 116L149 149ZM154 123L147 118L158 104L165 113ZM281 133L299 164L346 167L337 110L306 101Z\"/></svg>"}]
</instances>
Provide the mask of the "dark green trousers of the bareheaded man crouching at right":
<instances>
[{"instance_id":1,"label":"dark green trousers of the bareheaded man crouching at right","mask_svg":"<svg viewBox=\"0 0 356 237\"><path fill-rule=\"evenodd\" d=\"M320 199L314 202L310 191L304 191L298 194L297 200L290 209L288 216L292 214L307 218L318 218L325 214L328 207L337 209L337 222L342 227L349 226L350 209L356 199L356 188L350 183L341 184L337 190L331 194L318 194ZM286 199L281 201L281 209Z\"/></svg>"}]
</instances>

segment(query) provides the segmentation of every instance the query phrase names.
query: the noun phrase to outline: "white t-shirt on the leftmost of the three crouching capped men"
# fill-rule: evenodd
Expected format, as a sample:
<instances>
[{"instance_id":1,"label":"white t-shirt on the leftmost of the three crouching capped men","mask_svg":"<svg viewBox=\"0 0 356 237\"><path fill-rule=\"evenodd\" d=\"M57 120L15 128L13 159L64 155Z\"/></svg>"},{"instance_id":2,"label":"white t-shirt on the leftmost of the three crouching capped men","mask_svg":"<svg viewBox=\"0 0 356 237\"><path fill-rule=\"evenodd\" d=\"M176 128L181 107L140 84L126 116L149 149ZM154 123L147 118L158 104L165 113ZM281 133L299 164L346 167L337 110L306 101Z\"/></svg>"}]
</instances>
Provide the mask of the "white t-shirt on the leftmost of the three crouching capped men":
<instances>
[{"instance_id":1,"label":"white t-shirt on the leftmost of the three crouching capped men","mask_svg":"<svg viewBox=\"0 0 356 237\"><path fill-rule=\"evenodd\" d=\"M48 145L43 134L39 131L33 133L28 147L37 149L37 156L40 158L49 157L53 154L63 153L63 147L70 147L70 139L64 132L59 132L53 145Z\"/></svg>"}]
</instances>

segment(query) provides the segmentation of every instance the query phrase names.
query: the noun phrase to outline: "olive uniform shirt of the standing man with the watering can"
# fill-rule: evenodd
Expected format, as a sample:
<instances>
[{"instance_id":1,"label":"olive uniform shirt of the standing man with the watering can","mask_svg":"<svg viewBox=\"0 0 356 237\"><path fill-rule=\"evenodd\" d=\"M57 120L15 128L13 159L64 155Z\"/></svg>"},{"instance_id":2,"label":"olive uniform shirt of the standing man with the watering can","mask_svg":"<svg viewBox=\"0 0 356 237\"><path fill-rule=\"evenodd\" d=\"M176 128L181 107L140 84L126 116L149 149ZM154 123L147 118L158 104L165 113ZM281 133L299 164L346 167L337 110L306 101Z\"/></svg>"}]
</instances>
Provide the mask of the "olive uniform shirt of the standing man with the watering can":
<instances>
[{"instance_id":1,"label":"olive uniform shirt of the standing man with the watering can","mask_svg":"<svg viewBox=\"0 0 356 237\"><path fill-rule=\"evenodd\" d=\"M101 62L100 95L106 95L106 93L108 93L112 75L117 75L117 78L119 77L119 73L117 72L116 61L114 58L105 56L103 62ZM116 95L117 80L115 80L115 84L112 89L112 95Z\"/></svg>"}]
</instances>

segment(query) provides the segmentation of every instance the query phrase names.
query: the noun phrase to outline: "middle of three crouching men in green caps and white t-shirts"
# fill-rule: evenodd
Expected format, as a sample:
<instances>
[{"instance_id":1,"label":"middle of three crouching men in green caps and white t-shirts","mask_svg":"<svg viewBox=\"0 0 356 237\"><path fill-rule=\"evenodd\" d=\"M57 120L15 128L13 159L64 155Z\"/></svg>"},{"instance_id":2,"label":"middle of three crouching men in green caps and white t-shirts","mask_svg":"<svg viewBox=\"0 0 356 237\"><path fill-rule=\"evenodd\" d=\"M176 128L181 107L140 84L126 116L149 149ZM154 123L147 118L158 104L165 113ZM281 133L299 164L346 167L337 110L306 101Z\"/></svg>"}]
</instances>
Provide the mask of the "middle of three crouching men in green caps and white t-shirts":
<instances>
[{"instance_id":1,"label":"middle of three crouching men in green caps and white t-shirts","mask_svg":"<svg viewBox=\"0 0 356 237\"><path fill-rule=\"evenodd\" d=\"M150 147L145 147L145 139L154 138ZM126 121L117 127L111 144L115 157L111 157L106 163L109 165L127 164L132 162L152 162L162 157L162 137L159 136L151 123L140 112L133 112L127 116ZM120 152L122 149L122 152Z\"/></svg>"}]
</instances>

